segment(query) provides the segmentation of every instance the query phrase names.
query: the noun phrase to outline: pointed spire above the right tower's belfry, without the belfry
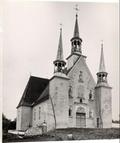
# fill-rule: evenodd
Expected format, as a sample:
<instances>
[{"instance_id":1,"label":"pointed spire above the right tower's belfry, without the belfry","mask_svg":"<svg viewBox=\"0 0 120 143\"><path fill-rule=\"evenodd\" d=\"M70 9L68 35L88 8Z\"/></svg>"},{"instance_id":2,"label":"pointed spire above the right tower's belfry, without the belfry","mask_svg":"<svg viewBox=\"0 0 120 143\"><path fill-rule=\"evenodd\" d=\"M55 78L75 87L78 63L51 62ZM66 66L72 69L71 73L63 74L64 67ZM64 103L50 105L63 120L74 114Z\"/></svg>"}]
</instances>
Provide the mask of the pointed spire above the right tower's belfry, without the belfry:
<instances>
[{"instance_id":1,"label":"pointed spire above the right tower's belfry, without the belfry","mask_svg":"<svg viewBox=\"0 0 120 143\"><path fill-rule=\"evenodd\" d=\"M99 72L106 72L105 62L104 62L104 54L103 54L103 43L101 44L101 57L100 57Z\"/></svg>"}]
</instances>

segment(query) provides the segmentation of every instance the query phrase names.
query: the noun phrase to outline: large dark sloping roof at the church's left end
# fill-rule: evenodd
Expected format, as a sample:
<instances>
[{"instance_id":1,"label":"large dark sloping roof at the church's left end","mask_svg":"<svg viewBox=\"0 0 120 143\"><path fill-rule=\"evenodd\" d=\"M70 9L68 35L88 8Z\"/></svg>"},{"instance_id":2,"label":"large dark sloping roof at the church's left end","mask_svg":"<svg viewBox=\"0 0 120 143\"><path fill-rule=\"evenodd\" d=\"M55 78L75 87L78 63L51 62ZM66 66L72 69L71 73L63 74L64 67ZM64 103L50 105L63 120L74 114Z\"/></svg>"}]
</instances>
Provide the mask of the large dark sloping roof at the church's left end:
<instances>
[{"instance_id":1,"label":"large dark sloping roof at the church's left end","mask_svg":"<svg viewBox=\"0 0 120 143\"><path fill-rule=\"evenodd\" d=\"M30 76L17 108L20 106L32 106L33 103L40 98L40 96L43 97L42 92L46 89L48 84L49 79Z\"/></svg>"}]
</instances>

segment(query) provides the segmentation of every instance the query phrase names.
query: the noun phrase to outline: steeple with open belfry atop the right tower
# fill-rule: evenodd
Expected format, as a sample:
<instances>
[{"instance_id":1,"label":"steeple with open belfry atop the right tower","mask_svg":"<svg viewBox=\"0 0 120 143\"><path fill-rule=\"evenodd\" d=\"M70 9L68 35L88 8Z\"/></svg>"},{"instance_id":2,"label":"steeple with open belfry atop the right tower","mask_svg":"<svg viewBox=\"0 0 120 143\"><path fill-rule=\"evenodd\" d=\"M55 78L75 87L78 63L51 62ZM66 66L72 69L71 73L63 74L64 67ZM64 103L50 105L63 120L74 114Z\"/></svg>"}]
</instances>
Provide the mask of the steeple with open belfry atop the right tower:
<instances>
[{"instance_id":1,"label":"steeple with open belfry atop the right tower","mask_svg":"<svg viewBox=\"0 0 120 143\"><path fill-rule=\"evenodd\" d=\"M105 70L103 43L102 43L101 44L101 56L100 56L99 72L97 73L97 83L100 83L100 82L107 83L107 75L108 75L108 73Z\"/></svg>"}]
</instances>

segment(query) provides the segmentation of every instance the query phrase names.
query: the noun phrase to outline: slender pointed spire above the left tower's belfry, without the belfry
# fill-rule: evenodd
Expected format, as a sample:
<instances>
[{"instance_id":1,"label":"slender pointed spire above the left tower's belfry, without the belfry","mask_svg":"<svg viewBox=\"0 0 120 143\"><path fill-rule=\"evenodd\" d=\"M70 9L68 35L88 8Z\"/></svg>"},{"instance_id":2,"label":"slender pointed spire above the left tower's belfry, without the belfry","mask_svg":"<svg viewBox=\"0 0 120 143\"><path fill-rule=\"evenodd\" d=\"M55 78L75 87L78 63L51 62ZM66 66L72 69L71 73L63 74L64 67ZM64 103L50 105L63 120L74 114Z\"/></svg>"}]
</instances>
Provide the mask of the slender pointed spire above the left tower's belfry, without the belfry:
<instances>
[{"instance_id":1,"label":"slender pointed spire above the left tower's belfry, without the belfry","mask_svg":"<svg viewBox=\"0 0 120 143\"><path fill-rule=\"evenodd\" d=\"M59 44L58 44L56 60L63 61L62 28L60 28L60 37L59 37Z\"/></svg>"}]
</instances>

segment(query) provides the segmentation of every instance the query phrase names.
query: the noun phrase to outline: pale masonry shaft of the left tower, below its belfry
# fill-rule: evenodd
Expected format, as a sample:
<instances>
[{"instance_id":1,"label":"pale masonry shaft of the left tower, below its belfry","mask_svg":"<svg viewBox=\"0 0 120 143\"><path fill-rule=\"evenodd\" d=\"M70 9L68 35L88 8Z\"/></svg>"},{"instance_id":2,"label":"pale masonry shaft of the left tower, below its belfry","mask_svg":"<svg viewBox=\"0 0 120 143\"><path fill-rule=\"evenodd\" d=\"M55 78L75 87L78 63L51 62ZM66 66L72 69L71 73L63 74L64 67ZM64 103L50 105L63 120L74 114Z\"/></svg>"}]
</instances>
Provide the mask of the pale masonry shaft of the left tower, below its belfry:
<instances>
[{"instance_id":1,"label":"pale masonry shaft of the left tower, below its belfry","mask_svg":"<svg viewBox=\"0 0 120 143\"><path fill-rule=\"evenodd\" d=\"M68 79L53 77L50 81L50 96L53 101L57 128L68 127Z\"/></svg>"}]
</instances>

